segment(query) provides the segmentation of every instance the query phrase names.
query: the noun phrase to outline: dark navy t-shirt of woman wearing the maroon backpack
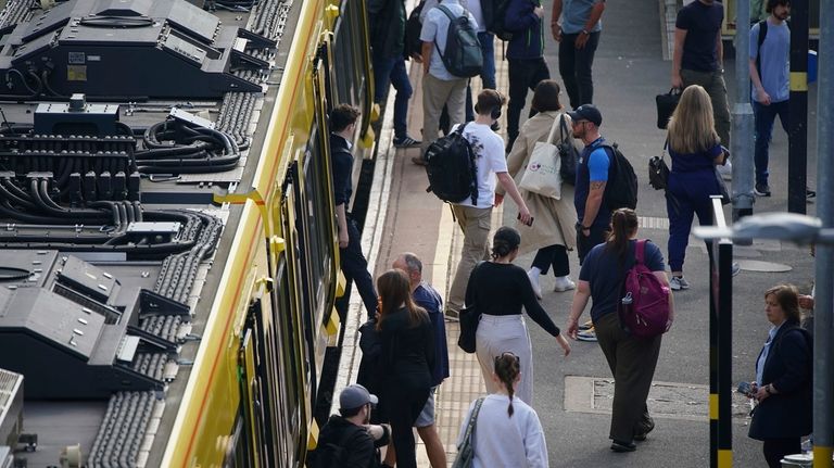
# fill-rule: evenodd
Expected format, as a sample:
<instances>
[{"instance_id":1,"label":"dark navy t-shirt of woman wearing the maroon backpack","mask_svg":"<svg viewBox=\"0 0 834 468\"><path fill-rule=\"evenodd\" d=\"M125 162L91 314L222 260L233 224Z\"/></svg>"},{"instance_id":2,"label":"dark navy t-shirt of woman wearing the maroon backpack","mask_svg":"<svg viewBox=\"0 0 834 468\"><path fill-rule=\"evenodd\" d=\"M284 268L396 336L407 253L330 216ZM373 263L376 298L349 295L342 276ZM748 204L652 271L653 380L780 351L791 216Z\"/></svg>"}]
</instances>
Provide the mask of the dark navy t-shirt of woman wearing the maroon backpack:
<instances>
[{"instance_id":1,"label":"dark navy t-shirt of woman wearing the maroon backpack","mask_svg":"<svg viewBox=\"0 0 834 468\"><path fill-rule=\"evenodd\" d=\"M620 301L620 289L622 280L626 279L626 271L634 265L634 245L636 241L629 242L629 252L626 255L626 264L620 266L620 261L614 252L606 249L608 243L602 243L591 249L585 261L582 263L582 269L579 271L579 279L587 281L591 286L591 319L596 321L599 317L617 312L617 303ZM644 264L652 271L664 271L664 254L660 248L654 242L646 242L644 252Z\"/></svg>"}]
</instances>

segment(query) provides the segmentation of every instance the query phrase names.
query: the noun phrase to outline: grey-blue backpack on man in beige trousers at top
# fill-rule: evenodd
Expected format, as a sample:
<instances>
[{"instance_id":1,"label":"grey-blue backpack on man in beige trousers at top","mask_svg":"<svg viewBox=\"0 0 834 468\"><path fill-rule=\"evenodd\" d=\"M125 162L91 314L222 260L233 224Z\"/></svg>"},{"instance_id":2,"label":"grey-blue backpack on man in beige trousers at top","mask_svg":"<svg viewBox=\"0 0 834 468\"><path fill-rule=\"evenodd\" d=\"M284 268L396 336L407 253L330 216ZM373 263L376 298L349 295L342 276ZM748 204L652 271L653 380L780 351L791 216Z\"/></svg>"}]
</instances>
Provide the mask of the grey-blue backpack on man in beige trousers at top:
<instances>
[{"instance_id":1,"label":"grey-blue backpack on man in beige trousers at top","mask_svg":"<svg viewBox=\"0 0 834 468\"><path fill-rule=\"evenodd\" d=\"M440 53L443 65L448 73L460 78L471 78L483 71L483 54L481 42L478 40L478 31L469 23L469 17L464 13L455 17L445 5L439 4L438 10L448 17L446 29L446 47L441 52L438 42L434 47Z\"/></svg>"}]
</instances>

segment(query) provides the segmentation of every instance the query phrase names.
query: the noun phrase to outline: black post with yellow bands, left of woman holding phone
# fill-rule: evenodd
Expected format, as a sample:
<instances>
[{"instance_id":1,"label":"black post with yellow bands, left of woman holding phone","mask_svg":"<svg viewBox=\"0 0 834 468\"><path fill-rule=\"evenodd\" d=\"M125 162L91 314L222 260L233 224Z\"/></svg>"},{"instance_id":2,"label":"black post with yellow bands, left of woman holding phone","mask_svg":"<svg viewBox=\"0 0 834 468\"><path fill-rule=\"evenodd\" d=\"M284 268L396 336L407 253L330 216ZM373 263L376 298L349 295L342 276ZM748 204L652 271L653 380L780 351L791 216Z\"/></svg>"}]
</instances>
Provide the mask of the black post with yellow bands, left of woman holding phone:
<instances>
[{"instance_id":1,"label":"black post with yellow bands, left of woman holding phone","mask_svg":"<svg viewBox=\"0 0 834 468\"><path fill-rule=\"evenodd\" d=\"M716 226L726 227L721 197L712 197ZM709 265L709 442L710 466L733 466L733 243L713 239Z\"/></svg>"}]
</instances>

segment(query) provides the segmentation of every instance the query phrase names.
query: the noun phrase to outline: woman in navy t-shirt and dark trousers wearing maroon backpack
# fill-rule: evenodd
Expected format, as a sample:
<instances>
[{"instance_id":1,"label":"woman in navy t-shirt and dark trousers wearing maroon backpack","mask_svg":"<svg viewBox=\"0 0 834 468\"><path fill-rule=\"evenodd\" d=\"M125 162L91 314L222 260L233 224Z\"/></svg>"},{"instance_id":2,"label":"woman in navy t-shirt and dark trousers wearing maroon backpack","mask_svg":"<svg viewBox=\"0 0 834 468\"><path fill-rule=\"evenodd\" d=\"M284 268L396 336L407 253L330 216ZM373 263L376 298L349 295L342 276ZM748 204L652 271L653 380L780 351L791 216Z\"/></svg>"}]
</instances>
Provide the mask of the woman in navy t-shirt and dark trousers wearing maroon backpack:
<instances>
[{"instance_id":1,"label":"woman in navy t-shirt and dark trousers wearing maroon backpack","mask_svg":"<svg viewBox=\"0 0 834 468\"><path fill-rule=\"evenodd\" d=\"M622 278L634 265L637 215L633 210L614 212L611 233L605 244L587 254L579 271L579 288L573 295L568 318L568 336L577 339L579 317L593 299L591 318L594 321L599 347L614 375L614 406L609 439L615 452L634 452L634 441L644 441L655 428L648 414L646 399L660 353L660 336L637 338L620 326L617 313ZM645 243L645 262L654 275L667 283L664 254L652 242ZM669 322L672 326L674 304L669 295Z\"/></svg>"}]
</instances>

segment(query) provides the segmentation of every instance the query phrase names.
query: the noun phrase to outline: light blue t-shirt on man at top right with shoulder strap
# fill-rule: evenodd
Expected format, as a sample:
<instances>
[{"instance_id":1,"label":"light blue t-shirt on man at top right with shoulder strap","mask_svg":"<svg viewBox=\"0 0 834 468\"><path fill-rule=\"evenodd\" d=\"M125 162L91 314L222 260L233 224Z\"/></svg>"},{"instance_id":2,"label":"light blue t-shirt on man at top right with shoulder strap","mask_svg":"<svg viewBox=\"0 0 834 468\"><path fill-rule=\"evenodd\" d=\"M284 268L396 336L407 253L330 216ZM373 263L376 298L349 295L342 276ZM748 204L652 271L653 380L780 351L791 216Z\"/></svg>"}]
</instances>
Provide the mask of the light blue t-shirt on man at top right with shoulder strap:
<instances>
[{"instance_id":1,"label":"light blue t-shirt on man at top right with shoulder strap","mask_svg":"<svg viewBox=\"0 0 834 468\"><path fill-rule=\"evenodd\" d=\"M750 28L750 59L759 59L759 78L771 102L783 102L791 98L791 28L787 23L775 25L768 21L768 35L759 49L758 23ZM751 89L756 101L756 88Z\"/></svg>"}]
</instances>

